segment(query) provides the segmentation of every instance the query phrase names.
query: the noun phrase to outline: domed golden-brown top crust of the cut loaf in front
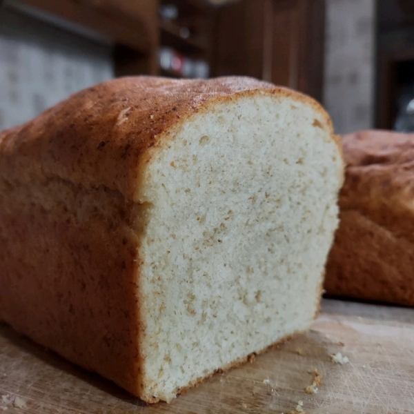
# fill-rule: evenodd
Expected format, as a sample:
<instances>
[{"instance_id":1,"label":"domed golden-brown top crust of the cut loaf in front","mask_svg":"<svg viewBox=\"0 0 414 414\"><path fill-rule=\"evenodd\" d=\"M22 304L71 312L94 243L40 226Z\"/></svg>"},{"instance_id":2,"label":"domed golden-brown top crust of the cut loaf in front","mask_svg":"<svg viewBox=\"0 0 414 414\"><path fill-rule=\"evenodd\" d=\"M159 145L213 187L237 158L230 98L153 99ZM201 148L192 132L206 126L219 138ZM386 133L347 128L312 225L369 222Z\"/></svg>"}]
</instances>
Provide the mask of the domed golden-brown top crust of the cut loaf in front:
<instances>
[{"instance_id":1,"label":"domed golden-brown top crust of the cut loaf in front","mask_svg":"<svg viewBox=\"0 0 414 414\"><path fill-rule=\"evenodd\" d=\"M262 92L319 104L287 88L246 77L174 80L126 77L73 95L36 119L0 134L1 171L61 177L86 188L103 185L134 199L139 168L165 132L212 101ZM30 162L28 162L28 160ZM136 198L136 197L135 197Z\"/></svg>"}]
</instances>

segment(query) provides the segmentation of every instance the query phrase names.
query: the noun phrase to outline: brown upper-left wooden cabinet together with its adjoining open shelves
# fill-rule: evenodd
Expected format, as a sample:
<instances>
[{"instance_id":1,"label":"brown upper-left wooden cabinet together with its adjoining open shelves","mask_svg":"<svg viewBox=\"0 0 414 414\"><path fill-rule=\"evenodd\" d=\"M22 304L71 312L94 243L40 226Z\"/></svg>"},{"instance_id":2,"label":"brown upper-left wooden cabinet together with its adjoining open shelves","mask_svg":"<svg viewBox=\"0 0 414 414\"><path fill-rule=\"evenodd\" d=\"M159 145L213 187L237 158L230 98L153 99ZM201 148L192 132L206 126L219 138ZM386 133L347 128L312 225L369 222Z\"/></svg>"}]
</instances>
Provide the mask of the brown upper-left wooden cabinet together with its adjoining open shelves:
<instances>
[{"instance_id":1,"label":"brown upper-left wooden cabinet together with its adjoining open shelves","mask_svg":"<svg viewBox=\"0 0 414 414\"><path fill-rule=\"evenodd\" d=\"M215 8L206 0L22 0L17 4L23 6L17 7L19 12L34 13L34 17L39 11L44 17L46 12L103 34L114 46L116 76L181 77L161 69L161 48L210 68ZM163 21L159 16L163 5L177 7L177 19Z\"/></svg>"}]
</instances>

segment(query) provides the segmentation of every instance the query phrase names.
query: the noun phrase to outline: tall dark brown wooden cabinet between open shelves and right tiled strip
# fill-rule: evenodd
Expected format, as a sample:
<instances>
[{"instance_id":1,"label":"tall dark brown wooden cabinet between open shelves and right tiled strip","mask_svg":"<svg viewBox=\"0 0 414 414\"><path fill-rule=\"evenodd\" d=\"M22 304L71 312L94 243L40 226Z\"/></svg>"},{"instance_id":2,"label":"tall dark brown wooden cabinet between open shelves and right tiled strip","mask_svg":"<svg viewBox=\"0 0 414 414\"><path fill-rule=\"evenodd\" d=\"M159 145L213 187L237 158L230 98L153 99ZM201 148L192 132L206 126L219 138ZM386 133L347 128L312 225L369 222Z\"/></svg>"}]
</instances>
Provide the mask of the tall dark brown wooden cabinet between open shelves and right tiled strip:
<instances>
[{"instance_id":1,"label":"tall dark brown wooden cabinet between open shelves and right tiled strip","mask_svg":"<svg viewBox=\"0 0 414 414\"><path fill-rule=\"evenodd\" d=\"M322 99L324 0L242 0L217 11L215 75L248 75Z\"/></svg>"}]
</instances>

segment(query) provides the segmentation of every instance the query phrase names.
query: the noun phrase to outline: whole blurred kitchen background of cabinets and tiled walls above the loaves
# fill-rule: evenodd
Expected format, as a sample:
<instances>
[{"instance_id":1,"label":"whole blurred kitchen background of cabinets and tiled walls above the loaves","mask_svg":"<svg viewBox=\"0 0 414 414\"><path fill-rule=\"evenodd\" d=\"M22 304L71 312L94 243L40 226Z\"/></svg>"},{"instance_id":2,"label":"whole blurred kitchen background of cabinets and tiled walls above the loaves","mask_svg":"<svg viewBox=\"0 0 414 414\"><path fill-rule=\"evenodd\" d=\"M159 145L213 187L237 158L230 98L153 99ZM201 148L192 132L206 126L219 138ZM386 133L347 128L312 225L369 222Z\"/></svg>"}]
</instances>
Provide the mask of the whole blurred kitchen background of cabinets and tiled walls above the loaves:
<instances>
[{"instance_id":1,"label":"whole blurred kitchen background of cabinets and tiled walls above the loaves","mask_svg":"<svg viewBox=\"0 0 414 414\"><path fill-rule=\"evenodd\" d=\"M3 0L0 130L125 75L248 75L414 131L414 0Z\"/></svg>"}]
</instances>

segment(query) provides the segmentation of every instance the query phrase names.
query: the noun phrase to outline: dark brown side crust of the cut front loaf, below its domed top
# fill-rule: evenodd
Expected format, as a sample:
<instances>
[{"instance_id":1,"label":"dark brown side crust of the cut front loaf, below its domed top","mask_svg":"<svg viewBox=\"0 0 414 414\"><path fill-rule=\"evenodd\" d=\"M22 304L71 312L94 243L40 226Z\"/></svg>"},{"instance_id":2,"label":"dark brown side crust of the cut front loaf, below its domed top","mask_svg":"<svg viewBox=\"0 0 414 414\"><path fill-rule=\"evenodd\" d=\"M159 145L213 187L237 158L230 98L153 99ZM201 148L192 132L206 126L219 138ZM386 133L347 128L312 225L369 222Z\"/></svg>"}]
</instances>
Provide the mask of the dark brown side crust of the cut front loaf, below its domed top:
<instances>
[{"instance_id":1,"label":"dark brown side crust of the cut front loaf, below its domed top","mask_svg":"<svg viewBox=\"0 0 414 414\"><path fill-rule=\"evenodd\" d=\"M142 212L106 188L30 184L0 186L0 319L137 394Z\"/></svg>"}]
</instances>

